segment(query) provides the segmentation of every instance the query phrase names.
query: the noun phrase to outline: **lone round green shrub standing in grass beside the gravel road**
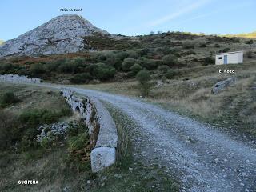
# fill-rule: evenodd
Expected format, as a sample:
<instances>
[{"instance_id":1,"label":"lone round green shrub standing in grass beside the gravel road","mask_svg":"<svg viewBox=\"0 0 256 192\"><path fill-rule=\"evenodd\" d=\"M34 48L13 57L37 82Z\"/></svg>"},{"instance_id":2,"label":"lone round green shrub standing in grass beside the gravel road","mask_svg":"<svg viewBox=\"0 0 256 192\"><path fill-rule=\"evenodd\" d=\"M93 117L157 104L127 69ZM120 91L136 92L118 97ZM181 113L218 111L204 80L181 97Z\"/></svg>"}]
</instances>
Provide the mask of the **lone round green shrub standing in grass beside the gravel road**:
<instances>
[{"instance_id":1,"label":"lone round green shrub standing in grass beside the gravel road","mask_svg":"<svg viewBox=\"0 0 256 192\"><path fill-rule=\"evenodd\" d=\"M149 71L141 70L136 75L136 79L139 82L139 90L143 97L147 97L150 94L150 90L154 86L153 83L150 82L151 76Z\"/></svg>"}]
</instances>

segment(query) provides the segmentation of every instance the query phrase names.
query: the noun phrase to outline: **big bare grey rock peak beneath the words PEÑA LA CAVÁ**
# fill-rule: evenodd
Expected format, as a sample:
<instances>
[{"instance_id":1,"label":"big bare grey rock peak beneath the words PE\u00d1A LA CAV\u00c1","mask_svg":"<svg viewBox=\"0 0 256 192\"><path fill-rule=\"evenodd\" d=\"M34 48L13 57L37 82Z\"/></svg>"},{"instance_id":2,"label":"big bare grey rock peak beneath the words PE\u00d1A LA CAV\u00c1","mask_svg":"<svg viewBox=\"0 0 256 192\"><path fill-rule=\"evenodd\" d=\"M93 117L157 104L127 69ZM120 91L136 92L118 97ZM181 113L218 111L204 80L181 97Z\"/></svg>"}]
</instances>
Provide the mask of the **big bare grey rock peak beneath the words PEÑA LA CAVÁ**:
<instances>
[{"instance_id":1,"label":"big bare grey rock peak beneath the words PE\u00d1A LA CAV\u00c1","mask_svg":"<svg viewBox=\"0 0 256 192\"><path fill-rule=\"evenodd\" d=\"M90 50L86 37L108 34L76 14L64 14L0 46L0 58L12 55L65 54Z\"/></svg>"}]
</instances>

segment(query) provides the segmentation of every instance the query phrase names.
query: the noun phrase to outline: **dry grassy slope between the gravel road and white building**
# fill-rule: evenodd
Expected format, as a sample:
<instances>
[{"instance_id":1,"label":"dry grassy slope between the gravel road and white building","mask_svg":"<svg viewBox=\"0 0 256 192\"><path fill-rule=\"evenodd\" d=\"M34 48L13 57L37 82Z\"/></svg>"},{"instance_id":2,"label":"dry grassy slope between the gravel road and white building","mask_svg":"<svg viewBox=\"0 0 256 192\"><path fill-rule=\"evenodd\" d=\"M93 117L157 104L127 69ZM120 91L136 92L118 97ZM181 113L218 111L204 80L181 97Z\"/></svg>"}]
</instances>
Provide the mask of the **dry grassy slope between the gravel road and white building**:
<instances>
[{"instance_id":1,"label":"dry grassy slope between the gravel road and white building","mask_svg":"<svg viewBox=\"0 0 256 192\"><path fill-rule=\"evenodd\" d=\"M238 81L234 86L213 95L211 88L218 81L230 77L219 74L219 69L235 70ZM214 125L255 134L256 123L256 63L241 65L205 66L179 70L180 75L169 83L155 86L150 102L160 103L168 109L199 118ZM188 81L183 79L189 78ZM86 85L90 89L138 97L135 81Z\"/></svg>"}]
</instances>

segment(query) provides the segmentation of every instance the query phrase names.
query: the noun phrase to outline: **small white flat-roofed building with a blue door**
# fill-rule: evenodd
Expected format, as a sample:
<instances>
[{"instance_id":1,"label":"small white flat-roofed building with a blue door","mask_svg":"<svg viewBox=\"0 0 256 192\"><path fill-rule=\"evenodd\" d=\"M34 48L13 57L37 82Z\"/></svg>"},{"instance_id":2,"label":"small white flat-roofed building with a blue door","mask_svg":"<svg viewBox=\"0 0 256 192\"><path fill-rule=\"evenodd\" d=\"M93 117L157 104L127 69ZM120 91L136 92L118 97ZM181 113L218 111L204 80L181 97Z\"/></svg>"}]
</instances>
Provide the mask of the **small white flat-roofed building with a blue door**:
<instances>
[{"instance_id":1,"label":"small white flat-roofed building with a blue door","mask_svg":"<svg viewBox=\"0 0 256 192\"><path fill-rule=\"evenodd\" d=\"M243 51L215 54L215 64L238 64L243 62Z\"/></svg>"}]
</instances>

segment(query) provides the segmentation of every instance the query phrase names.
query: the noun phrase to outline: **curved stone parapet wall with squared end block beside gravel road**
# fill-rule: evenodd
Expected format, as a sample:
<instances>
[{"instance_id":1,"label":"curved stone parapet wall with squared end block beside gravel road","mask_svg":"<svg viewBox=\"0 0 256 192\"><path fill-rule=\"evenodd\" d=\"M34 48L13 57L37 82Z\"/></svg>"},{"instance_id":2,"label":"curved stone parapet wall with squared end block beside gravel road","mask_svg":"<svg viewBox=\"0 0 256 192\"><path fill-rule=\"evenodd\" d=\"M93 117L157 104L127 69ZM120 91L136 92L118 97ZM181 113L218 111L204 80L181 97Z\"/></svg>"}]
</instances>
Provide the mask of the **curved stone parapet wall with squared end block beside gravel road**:
<instances>
[{"instance_id":1,"label":"curved stone parapet wall with squared end block beside gravel road","mask_svg":"<svg viewBox=\"0 0 256 192\"><path fill-rule=\"evenodd\" d=\"M72 90L62 89L62 96L77 110L89 128L90 154L93 172L98 172L116 161L118 133L110 113L97 98L78 96Z\"/></svg>"}]
</instances>

